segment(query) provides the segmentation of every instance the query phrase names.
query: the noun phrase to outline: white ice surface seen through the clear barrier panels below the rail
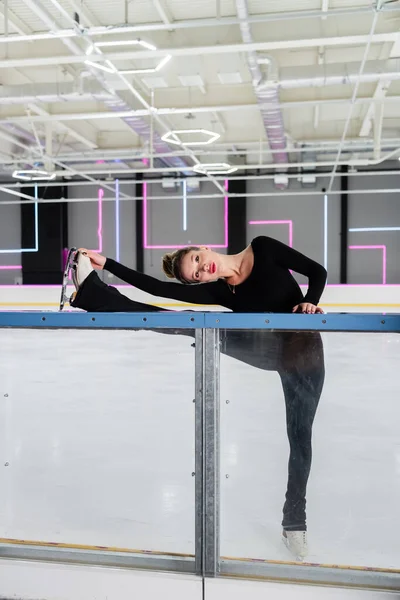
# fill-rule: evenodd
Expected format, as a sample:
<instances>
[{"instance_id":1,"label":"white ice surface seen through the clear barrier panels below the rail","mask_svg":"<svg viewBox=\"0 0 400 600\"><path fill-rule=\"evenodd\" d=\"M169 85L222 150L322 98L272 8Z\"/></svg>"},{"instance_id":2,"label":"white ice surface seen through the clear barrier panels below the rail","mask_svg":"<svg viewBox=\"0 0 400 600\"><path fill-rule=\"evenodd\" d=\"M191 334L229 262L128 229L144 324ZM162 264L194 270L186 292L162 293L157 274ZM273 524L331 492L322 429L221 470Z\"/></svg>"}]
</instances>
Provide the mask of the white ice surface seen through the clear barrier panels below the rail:
<instances>
[{"instance_id":1,"label":"white ice surface seen through the clear barrier panels below the rail","mask_svg":"<svg viewBox=\"0 0 400 600\"><path fill-rule=\"evenodd\" d=\"M323 340L308 560L398 568L400 336ZM0 537L194 554L192 344L0 330ZM277 373L221 356L223 556L292 559L287 459Z\"/></svg>"}]
</instances>

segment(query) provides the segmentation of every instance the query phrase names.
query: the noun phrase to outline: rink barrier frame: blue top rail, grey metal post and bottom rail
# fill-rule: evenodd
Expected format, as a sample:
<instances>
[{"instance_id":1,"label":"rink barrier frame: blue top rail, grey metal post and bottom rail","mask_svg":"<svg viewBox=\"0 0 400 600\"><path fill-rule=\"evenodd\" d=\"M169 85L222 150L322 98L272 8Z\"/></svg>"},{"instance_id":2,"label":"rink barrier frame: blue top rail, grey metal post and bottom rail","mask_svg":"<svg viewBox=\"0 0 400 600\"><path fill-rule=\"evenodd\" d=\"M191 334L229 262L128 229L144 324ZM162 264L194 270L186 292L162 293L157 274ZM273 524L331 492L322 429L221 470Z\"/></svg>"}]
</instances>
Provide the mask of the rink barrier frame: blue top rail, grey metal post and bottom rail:
<instances>
[{"instance_id":1,"label":"rink barrier frame: blue top rail, grey metal post and bottom rail","mask_svg":"<svg viewBox=\"0 0 400 600\"><path fill-rule=\"evenodd\" d=\"M94 321L93 321L94 319ZM328 322L329 320L329 322ZM322 323L325 321L325 323ZM219 552L219 357L217 329L286 329L326 331L399 332L400 315L278 315L232 313L0 313L0 327L18 328L106 328L106 329L196 329L196 546L195 560L162 555L157 551L137 554L100 548L71 549L41 543L32 546L0 540L0 558L69 562L153 569L200 576L223 576L314 585L400 590L400 572L374 567L352 567L224 558ZM199 365L201 368L199 369ZM214 445L210 440L214 439ZM207 477L208 475L208 477ZM208 510L212 502L212 510ZM207 509L204 507L207 506ZM203 508L202 508L203 507ZM67 545L68 546L68 545Z\"/></svg>"}]
</instances>

